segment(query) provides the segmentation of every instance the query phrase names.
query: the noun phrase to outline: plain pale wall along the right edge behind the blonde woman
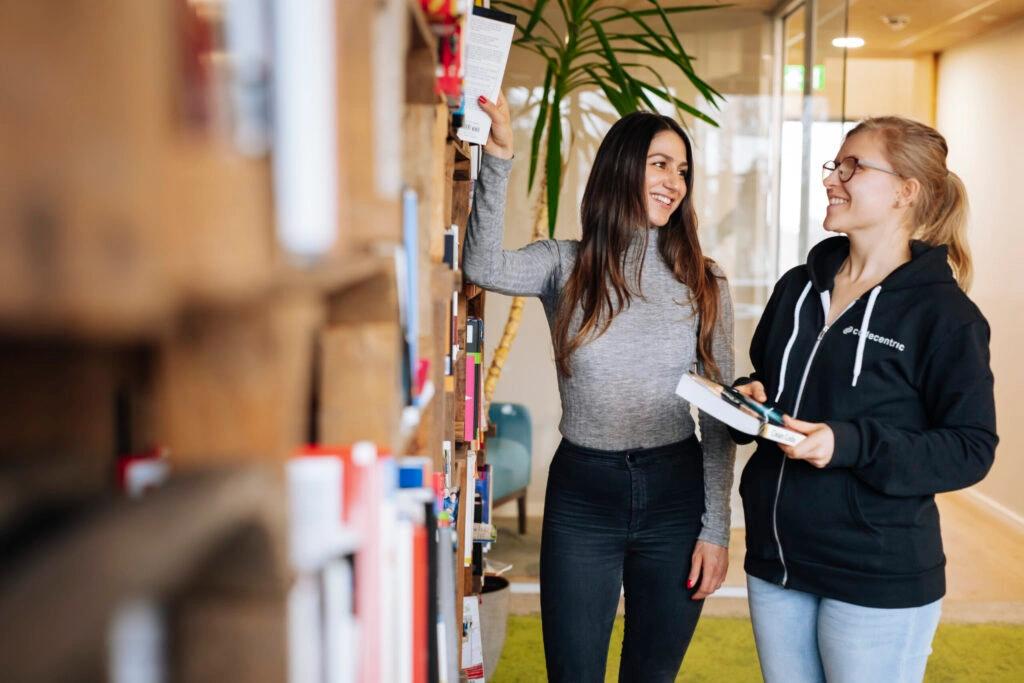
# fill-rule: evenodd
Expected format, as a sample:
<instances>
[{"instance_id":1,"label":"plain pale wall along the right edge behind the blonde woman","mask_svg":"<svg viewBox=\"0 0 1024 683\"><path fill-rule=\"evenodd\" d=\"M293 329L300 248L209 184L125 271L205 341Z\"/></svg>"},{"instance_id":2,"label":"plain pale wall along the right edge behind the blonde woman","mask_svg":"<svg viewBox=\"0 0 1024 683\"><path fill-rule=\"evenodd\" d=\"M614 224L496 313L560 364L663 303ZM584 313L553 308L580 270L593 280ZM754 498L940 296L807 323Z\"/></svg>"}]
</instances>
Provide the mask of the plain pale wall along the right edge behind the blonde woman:
<instances>
[{"instance_id":1,"label":"plain pale wall along the right edge behind the blonde woman","mask_svg":"<svg viewBox=\"0 0 1024 683\"><path fill-rule=\"evenodd\" d=\"M971 298L992 328L999 447L977 489L1024 515L1024 22L940 55L937 124L971 198Z\"/></svg>"}]
</instances>

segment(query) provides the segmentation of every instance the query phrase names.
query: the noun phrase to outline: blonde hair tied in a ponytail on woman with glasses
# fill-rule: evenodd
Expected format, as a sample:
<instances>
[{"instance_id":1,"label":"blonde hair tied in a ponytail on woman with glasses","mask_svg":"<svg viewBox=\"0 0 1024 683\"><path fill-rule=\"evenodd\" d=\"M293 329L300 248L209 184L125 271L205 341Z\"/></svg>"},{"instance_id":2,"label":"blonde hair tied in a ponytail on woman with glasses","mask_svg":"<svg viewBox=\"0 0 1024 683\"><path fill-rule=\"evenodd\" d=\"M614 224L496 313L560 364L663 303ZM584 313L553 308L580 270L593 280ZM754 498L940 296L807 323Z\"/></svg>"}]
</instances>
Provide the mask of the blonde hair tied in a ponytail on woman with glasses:
<instances>
[{"instance_id":1,"label":"blonde hair tied in a ponytail on woman with glasses","mask_svg":"<svg viewBox=\"0 0 1024 683\"><path fill-rule=\"evenodd\" d=\"M847 133L881 136L893 170L904 178L915 178L921 193L910 214L911 238L949 250L949 266L961 289L971 287L973 267L967 242L967 188L946 168L949 147L939 131L902 117L878 117L861 121Z\"/></svg>"}]
</instances>

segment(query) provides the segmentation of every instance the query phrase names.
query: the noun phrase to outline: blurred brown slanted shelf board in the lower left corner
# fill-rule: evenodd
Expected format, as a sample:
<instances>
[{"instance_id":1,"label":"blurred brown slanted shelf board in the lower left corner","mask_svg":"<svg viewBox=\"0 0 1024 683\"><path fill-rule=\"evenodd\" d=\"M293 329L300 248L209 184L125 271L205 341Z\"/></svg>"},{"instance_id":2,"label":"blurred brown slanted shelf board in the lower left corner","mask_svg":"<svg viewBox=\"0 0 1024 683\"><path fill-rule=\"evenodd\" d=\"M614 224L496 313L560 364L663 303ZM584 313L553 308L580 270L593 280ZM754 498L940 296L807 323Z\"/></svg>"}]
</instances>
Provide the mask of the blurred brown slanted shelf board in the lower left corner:
<instances>
[{"instance_id":1,"label":"blurred brown slanted shelf board in the lower left corner","mask_svg":"<svg viewBox=\"0 0 1024 683\"><path fill-rule=\"evenodd\" d=\"M13 566L0 593L4 678L63 681L101 671L110 620L136 597L170 599L202 586L208 596L276 596L283 605L283 501L281 484L261 470L207 471L142 501L97 501L68 532L5 558ZM247 644L264 648L250 654L261 659L272 650L284 674L284 639Z\"/></svg>"}]
</instances>

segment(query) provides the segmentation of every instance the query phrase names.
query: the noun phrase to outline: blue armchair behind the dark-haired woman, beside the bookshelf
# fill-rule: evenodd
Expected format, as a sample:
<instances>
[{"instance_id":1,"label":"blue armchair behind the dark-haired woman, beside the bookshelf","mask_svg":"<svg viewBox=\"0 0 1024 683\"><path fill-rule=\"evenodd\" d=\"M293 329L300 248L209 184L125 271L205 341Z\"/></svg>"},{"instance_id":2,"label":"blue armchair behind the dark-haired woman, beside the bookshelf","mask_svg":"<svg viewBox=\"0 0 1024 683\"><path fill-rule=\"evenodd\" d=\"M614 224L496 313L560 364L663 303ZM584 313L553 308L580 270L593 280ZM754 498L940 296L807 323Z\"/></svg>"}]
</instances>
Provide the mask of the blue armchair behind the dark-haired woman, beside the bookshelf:
<instances>
[{"instance_id":1,"label":"blue armchair behind the dark-haired woman, beside the bookshelf","mask_svg":"<svg viewBox=\"0 0 1024 683\"><path fill-rule=\"evenodd\" d=\"M497 507L515 499L519 513L519 533L526 532L526 486L529 485L534 427L529 411L521 403L490 403L487 418L495 435L487 439Z\"/></svg>"}]
</instances>

